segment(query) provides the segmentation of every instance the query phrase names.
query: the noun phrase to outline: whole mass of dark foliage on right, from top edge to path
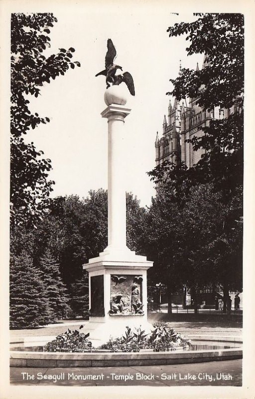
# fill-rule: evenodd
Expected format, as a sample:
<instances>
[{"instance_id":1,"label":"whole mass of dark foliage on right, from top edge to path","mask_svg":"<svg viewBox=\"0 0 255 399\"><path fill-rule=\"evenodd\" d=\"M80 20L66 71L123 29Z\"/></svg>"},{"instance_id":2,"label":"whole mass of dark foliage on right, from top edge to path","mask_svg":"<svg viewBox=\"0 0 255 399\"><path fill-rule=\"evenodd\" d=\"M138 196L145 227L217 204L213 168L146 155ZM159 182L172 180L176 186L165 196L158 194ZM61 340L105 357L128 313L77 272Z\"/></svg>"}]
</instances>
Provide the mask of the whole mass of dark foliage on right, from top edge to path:
<instances>
[{"instance_id":1,"label":"whole mass of dark foliage on right, from top edge to path","mask_svg":"<svg viewBox=\"0 0 255 399\"><path fill-rule=\"evenodd\" d=\"M205 53L201 70L183 68L171 79L178 101L189 97L210 117L204 135L187 140L203 150L189 169L171 162L148 175L157 196L147 216L145 239L158 275L169 291L188 284L196 291L210 284L242 285L244 19L242 14L198 14L191 23L169 27L185 34L188 55ZM215 107L224 118L213 117Z\"/></svg>"}]
</instances>

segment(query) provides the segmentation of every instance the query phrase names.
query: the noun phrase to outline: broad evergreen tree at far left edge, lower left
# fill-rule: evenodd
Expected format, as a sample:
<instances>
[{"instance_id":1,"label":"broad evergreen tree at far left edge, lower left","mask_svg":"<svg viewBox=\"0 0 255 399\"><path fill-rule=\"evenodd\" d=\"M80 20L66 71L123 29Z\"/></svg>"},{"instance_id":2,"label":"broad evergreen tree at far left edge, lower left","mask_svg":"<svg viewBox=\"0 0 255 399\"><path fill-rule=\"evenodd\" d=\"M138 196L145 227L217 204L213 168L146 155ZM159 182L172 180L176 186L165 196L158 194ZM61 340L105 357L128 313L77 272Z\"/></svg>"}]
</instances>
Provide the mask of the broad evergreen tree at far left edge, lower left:
<instances>
[{"instance_id":1,"label":"broad evergreen tree at far left edge, lower left","mask_svg":"<svg viewBox=\"0 0 255 399\"><path fill-rule=\"evenodd\" d=\"M10 256L10 327L35 328L49 322L49 302L41 272L22 251Z\"/></svg>"}]
</instances>

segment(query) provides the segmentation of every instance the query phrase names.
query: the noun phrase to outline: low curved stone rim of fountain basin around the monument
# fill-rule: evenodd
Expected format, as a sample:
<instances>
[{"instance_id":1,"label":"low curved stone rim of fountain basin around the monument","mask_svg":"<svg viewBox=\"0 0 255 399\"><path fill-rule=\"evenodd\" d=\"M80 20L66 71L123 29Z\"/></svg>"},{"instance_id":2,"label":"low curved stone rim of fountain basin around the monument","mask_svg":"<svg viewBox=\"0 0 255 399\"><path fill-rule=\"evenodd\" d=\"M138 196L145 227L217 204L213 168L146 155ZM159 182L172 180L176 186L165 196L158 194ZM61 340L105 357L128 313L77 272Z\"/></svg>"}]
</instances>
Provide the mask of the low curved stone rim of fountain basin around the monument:
<instances>
[{"instance_id":1,"label":"low curved stone rim of fountain basin around the monument","mask_svg":"<svg viewBox=\"0 0 255 399\"><path fill-rule=\"evenodd\" d=\"M141 350L123 352L43 352L42 346L17 347L13 343L10 351L10 367L121 367L156 366L183 363L200 363L234 360L243 357L242 341L238 337L188 336L192 338L192 349L175 349L169 352Z\"/></svg>"}]
</instances>

